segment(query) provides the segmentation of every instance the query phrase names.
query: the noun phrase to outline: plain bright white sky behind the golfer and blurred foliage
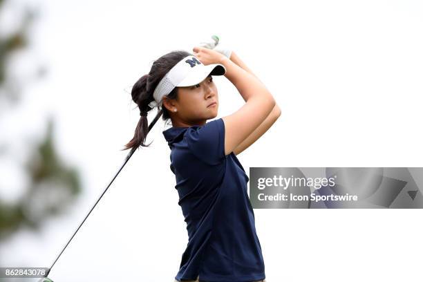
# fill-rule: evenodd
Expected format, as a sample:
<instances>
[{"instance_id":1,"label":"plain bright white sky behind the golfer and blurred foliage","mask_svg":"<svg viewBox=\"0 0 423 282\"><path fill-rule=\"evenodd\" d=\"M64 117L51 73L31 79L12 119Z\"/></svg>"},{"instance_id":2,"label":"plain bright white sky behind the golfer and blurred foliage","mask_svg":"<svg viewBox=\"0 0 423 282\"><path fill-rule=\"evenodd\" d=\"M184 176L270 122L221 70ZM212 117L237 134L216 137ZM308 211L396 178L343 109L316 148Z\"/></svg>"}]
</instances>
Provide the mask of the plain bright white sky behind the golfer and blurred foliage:
<instances>
[{"instance_id":1,"label":"plain bright white sky behind the golfer and blurred foliage","mask_svg":"<svg viewBox=\"0 0 423 282\"><path fill-rule=\"evenodd\" d=\"M423 167L421 1L15 1L39 8L32 50L44 62L2 131L41 135L57 120L59 153L84 193L39 233L0 250L8 265L44 266L129 151L138 109L124 88L153 59L218 35L265 83L282 115L238 158L250 167ZM8 15L9 19L13 17ZM12 21L11 21L12 22ZM11 23L12 25L12 23ZM216 77L218 118L242 104ZM150 120L153 118L150 113ZM5 127L8 124L8 127ZM55 281L172 281L187 243L160 120L151 148L126 164L50 273ZM19 187L19 185L16 185ZM19 189L2 188L14 198ZM267 282L417 281L422 210L255 209Z\"/></svg>"}]
</instances>

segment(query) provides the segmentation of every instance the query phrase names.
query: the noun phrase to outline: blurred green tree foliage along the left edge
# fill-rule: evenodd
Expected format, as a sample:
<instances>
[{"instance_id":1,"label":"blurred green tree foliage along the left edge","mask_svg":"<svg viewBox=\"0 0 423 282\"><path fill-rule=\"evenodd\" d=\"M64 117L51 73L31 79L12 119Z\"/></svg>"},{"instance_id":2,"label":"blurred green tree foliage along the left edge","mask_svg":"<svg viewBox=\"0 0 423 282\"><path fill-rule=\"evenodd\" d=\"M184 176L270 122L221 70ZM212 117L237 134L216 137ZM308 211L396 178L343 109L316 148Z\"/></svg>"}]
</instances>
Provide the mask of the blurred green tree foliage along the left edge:
<instances>
[{"instance_id":1,"label":"blurred green tree foliage along the left edge","mask_svg":"<svg viewBox=\"0 0 423 282\"><path fill-rule=\"evenodd\" d=\"M0 17L4 4L5 1L0 0ZM1 32L0 35L0 100L12 102L10 104L14 106L19 103L21 93L15 91L19 89L13 85L16 82L8 79L9 64L12 62L10 58L13 54L17 54L17 50L28 46L28 27L36 15L30 10L23 11L23 14L18 30L8 35L3 35ZM1 26L0 30L3 30ZM7 112L5 107L4 103L0 104L0 118ZM13 111L13 108L8 106L8 112L10 111ZM28 181L25 181L24 193L18 200L9 203L1 198L4 184L0 179L0 245L21 227L36 230L44 220L64 212L81 190L79 173L73 167L66 165L55 149L53 117L48 118L46 122L47 131L44 138L35 143L28 142L28 148L32 151L21 168ZM0 132L1 135L6 136L7 132ZM7 142L0 140L0 161L2 158L3 161L6 160L5 156L8 153Z\"/></svg>"}]
</instances>

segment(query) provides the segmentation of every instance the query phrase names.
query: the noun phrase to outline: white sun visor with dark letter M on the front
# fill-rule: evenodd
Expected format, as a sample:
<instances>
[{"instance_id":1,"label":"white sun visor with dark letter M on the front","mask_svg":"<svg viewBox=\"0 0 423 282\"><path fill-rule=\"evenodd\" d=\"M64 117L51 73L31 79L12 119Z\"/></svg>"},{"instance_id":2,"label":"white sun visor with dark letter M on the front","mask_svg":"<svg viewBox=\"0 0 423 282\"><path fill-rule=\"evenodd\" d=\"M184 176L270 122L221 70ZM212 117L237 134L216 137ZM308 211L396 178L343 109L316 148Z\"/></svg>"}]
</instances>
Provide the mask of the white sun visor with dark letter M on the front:
<instances>
[{"instance_id":1,"label":"white sun visor with dark letter M on the front","mask_svg":"<svg viewBox=\"0 0 423 282\"><path fill-rule=\"evenodd\" d=\"M192 86L203 82L209 75L225 75L226 68L222 64L209 64L205 66L200 60L189 55L178 62L171 70L164 75L162 80L154 89L152 101L149 106L162 105L162 97L171 93L175 87Z\"/></svg>"}]
</instances>

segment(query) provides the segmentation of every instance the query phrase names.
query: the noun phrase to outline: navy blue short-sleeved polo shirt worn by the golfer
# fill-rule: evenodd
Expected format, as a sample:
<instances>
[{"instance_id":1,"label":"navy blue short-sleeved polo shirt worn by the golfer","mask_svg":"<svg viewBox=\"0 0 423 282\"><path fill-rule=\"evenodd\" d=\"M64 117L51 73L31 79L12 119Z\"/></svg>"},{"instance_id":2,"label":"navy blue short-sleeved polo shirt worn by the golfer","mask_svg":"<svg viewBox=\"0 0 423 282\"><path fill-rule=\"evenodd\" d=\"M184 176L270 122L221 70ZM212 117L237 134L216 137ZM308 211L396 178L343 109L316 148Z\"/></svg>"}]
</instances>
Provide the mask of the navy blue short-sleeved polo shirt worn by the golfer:
<instances>
[{"instance_id":1,"label":"navy blue short-sleeved polo shirt worn by the golfer","mask_svg":"<svg viewBox=\"0 0 423 282\"><path fill-rule=\"evenodd\" d=\"M188 243L175 279L241 282L265 279L250 180L232 152L225 156L225 123L163 131L171 149L178 205L187 223Z\"/></svg>"}]
</instances>

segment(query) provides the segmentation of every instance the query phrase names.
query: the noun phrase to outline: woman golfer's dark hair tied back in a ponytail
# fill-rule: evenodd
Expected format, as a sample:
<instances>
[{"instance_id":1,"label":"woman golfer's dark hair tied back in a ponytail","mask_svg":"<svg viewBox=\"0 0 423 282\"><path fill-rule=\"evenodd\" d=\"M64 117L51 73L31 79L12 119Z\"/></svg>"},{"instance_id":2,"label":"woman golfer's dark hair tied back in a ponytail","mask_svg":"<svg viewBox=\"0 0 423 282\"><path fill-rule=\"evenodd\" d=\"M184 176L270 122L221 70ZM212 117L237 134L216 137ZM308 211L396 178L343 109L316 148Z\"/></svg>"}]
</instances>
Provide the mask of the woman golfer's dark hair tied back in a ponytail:
<instances>
[{"instance_id":1,"label":"woman golfer's dark hair tied back in a ponytail","mask_svg":"<svg viewBox=\"0 0 423 282\"><path fill-rule=\"evenodd\" d=\"M149 107L149 103L154 100L153 92L160 80L166 75L167 72L173 68L181 59L192 55L185 50L176 50L172 51L171 53L167 53L162 57L156 59L151 66L151 70L147 75L143 75L138 79L137 82L132 87L131 96L133 102L138 104L138 109L140 111L150 111L151 108ZM167 94L166 97L169 99L177 99L178 98L178 87L173 88L171 93ZM151 127L156 123L160 115L162 115L162 120L167 121L170 118L169 112L167 111L166 107L159 106L158 107L158 114L156 118L154 118L153 122L151 122L150 126L148 124L147 116L141 115L140 121L135 128L135 133L131 141L125 145L125 148L122 150L127 149L135 149L140 146L142 147L149 147L150 144L144 144L145 139L147 138L147 133ZM150 127L150 129L149 129Z\"/></svg>"}]
</instances>

